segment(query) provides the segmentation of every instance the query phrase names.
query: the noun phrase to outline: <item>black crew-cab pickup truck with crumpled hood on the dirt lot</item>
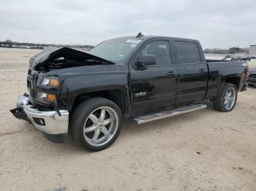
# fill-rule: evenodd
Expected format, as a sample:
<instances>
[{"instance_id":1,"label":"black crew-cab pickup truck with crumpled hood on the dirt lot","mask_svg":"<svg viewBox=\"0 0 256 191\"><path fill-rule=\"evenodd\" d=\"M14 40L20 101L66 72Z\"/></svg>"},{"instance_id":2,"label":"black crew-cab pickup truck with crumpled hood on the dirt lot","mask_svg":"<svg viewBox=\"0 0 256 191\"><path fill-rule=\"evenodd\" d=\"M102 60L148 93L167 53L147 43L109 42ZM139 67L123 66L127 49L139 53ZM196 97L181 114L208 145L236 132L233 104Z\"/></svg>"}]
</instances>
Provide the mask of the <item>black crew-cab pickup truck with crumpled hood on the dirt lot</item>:
<instances>
[{"instance_id":1,"label":"black crew-cab pickup truck with crumpled hood on the dirt lot","mask_svg":"<svg viewBox=\"0 0 256 191\"><path fill-rule=\"evenodd\" d=\"M11 112L47 139L71 134L86 149L105 149L122 120L138 124L206 108L230 112L246 90L244 61L206 61L197 40L167 36L110 39L89 52L48 48L31 58L29 93Z\"/></svg>"}]
</instances>

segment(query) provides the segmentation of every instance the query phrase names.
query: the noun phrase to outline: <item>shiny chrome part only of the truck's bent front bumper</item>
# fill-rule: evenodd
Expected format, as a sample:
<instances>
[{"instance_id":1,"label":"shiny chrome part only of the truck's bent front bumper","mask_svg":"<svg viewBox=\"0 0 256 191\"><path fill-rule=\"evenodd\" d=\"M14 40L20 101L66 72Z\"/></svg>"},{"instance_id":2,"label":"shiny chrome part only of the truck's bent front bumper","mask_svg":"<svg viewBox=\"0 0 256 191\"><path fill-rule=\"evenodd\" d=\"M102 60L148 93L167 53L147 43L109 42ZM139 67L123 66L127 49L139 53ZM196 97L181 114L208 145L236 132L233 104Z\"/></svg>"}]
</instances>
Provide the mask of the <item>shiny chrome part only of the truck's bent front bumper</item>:
<instances>
[{"instance_id":1,"label":"shiny chrome part only of the truck's bent front bumper","mask_svg":"<svg viewBox=\"0 0 256 191\"><path fill-rule=\"evenodd\" d=\"M17 100L17 108L22 108L26 116L32 122L35 128L43 133L56 135L68 132L69 112L59 110L61 116L56 111L42 112L29 104L29 97L20 95ZM43 119L45 124L39 125L35 120Z\"/></svg>"}]
</instances>

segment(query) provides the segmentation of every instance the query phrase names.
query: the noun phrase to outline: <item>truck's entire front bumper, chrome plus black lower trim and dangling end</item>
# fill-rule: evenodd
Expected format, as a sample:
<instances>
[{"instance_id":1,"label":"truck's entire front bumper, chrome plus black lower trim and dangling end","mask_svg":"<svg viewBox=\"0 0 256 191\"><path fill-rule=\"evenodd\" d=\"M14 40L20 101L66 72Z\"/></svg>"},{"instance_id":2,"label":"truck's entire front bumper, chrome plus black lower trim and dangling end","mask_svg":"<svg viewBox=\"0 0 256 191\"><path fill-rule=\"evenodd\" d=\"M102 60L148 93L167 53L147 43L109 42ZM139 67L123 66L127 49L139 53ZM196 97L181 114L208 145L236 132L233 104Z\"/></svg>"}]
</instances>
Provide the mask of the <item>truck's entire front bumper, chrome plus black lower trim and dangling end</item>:
<instances>
[{"instance_id":1,"label":"truck's entire front bumper, chrome plus black lower trim and dangling end","mask_svg":"<svg viewBox=\"0 0 256 191\"><path fill-rule=\"evenodd\" d=\"M17 108L12 109L11 112L18 119L31 122L37 130L45 133L45 137L50 141L67 141L69 125L69 112L67 110L59 110L61 116L56 111L39 111L30 104L29 97L20 95Z\"/></svg>"}]
</instances>

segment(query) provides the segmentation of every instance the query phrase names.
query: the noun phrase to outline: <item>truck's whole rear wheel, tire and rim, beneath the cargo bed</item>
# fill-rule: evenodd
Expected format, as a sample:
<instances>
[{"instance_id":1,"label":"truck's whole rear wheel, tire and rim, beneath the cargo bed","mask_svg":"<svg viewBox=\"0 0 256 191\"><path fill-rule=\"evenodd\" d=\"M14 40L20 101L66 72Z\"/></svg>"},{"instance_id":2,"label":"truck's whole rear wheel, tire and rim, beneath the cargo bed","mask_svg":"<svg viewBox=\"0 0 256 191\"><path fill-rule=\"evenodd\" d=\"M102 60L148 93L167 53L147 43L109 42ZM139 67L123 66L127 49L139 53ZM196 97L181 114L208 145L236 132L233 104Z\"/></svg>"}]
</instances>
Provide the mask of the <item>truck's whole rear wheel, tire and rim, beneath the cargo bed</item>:
<instances>
[{"instance_id":1,"label":"truck's whole rear wheel, tire and rim, beneath the cargo bed","mask_svg":"<svg viewBox=\"0 0 256 191\"><path fill-rule=\"evenodd\" d=\"M236 106L237 89L236 86L230 83L225 83L222 88L222 93L214 101L214 109L220 112L230 112Z\"/></svg>"}]
</instances>

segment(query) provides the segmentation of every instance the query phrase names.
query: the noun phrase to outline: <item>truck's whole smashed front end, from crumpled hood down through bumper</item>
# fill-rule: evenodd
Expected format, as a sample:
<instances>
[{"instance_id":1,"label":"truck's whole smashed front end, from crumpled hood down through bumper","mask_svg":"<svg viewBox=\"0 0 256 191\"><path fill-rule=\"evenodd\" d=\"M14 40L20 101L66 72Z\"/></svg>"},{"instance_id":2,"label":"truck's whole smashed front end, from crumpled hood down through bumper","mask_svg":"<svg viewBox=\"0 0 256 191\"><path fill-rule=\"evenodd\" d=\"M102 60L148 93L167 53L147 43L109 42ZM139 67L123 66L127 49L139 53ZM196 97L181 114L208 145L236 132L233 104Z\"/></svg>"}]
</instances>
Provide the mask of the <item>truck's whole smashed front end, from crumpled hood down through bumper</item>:
<instances>
[{"instance_id":1,"label":"truck's whole smashed front end, from crumpled hood down through bumper","mask_svg":"<svg viewBox=\"0 0 256 191\"><path fill-rule=\"evenodd\" d=\"M39 52L29 61L27 88L29 93L20 95L17 107L10 112L19 120L31 122L45 134L47 139L57 143L67 141L69 111L61 106L58 75L50 71L76 66L113 64L87 52L67 47L53 48Z\"/></svg>"}]
</instances>

